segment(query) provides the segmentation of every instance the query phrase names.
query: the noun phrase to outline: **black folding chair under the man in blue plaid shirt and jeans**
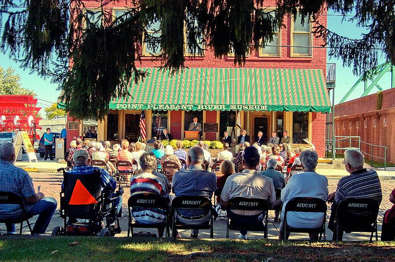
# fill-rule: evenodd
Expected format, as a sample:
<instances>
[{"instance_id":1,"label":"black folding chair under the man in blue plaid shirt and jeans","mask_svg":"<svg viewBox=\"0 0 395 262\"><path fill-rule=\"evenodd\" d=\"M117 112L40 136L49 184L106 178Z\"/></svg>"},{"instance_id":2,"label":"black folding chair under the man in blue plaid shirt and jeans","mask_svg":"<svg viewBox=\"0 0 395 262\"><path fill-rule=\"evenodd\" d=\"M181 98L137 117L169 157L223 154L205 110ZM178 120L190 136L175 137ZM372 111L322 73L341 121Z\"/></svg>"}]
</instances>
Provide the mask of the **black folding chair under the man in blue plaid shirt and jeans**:
<instances>
[{"instance_id":1,"label":"black folding chair under the man in blue plaid shirt and jeans","mask_svg":"<svg viewBox=\"0 0 395 262\"><path fill-rule=\"evenodd\" d=\"M19 229L19 234L22 235L22 227L23 227L23 222L26 221L26 224L29 227L30 233L32 233L32 227L29 223L29 219L32 217L29 217L26 215L26 210L25 206L23 204L23 200L20 196L11 193L11 192L0 192L0 205L19 205L21 209L21 214L14 218L14 219L9 219L9 218L1 218L0 217L0 223L10 223L10 224L21 224L21 227Z\"/></svg>"}]
</instances>

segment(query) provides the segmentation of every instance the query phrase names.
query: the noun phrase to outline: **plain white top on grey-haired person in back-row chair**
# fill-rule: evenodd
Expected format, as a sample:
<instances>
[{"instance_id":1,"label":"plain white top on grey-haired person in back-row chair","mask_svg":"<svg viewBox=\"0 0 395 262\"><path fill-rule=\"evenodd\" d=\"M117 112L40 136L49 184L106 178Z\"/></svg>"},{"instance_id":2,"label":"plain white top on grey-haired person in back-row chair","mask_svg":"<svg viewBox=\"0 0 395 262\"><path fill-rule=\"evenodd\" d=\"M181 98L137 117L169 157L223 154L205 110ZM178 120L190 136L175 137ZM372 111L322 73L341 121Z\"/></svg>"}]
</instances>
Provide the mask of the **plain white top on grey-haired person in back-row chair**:
<instances>
[{"instance_id":1,"label":"plain white top on grey-haired person in back-row chair","mask_svg":"<svg viewBox=\"0 0 395 262\"><path fill-rule=\"evenodd\" d=\"M328 179L316 172L302 172L293 175L281 190L284 203L281 211L281 222L284 221L285 206L295 197L316 197L328 199ZM322 225L322 213L287 212L287 224L292 227L316 228Z\"/></svg>"}]
</instances>

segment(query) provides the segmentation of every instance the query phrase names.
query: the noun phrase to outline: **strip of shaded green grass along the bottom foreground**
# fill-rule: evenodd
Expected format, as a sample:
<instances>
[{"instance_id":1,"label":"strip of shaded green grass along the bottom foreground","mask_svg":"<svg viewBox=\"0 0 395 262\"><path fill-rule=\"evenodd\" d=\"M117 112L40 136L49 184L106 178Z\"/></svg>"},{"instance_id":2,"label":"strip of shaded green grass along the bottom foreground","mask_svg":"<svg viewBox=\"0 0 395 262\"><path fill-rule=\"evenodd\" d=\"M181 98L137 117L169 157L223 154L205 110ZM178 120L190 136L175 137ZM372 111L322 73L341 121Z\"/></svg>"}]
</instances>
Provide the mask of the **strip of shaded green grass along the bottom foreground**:
<instances>
[{"instance_id":1,"label":"strip of shaded green grass along the bottom foreground","mask_svg":"<svg viewBox=\"0 0 395 262\"><path fill-rule=\"evenodd\" d=\"M80 244L68 245L74 241ZM7 236L0 237L0 254L6 261L395 261L395 242Z\"/></svg>"}]
</instances>

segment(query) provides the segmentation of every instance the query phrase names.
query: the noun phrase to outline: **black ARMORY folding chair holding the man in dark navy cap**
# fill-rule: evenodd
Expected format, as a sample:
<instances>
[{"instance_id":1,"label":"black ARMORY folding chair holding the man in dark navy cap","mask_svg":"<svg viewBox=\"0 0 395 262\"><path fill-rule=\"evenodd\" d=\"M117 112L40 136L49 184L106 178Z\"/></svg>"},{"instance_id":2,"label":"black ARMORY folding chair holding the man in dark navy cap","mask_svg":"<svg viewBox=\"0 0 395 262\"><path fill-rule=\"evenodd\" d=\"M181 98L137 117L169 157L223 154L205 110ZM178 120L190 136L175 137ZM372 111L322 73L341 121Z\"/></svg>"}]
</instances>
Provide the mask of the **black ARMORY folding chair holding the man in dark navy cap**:
<instances>
[{"instance_id":1,"label":"black ARMORY folding chair holding the man in dark navy cap","mask_svg":"<svg viewBox=\"0 0 395 262\"><path fill-rule=\"evenodd\" d=\"M229 218L229 213L233 210L242 211L261 211L264 213L264 220L262 223L239 225ZM226 238L229 238L229 230L246 230L246 231L258 231L264 232L264 239L268 238L268 212L269 204L265 199L259 198L245 198L245 197L234 197L229 200L227 208L227 223L226 223Z\"/></svg>"}]
</instances>

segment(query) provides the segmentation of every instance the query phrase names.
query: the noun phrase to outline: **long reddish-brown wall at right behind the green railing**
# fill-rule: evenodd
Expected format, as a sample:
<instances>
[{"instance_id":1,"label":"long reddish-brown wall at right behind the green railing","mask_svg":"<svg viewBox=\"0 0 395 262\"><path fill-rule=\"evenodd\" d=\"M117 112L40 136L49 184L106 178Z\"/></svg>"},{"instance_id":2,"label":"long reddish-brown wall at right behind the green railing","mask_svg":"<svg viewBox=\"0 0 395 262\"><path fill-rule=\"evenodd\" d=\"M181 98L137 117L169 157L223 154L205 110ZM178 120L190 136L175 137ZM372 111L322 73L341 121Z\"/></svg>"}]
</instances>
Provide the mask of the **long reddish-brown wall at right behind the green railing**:
<instances>
[{"instance_id":1,"label":"long reddish-brown wall at right behind the green railing","mask_svg":"<svg viewBox=\"0 0 395 262\"><path fill-rule=\"evenodd\" d=\"M387 161L395 163L395 89L383 91L381 109L377 110L377 106L377 94L336 105L335 135L360 136L366 143L386 146ZM370 146L364 144L361 150L371 152ZM384 150L374 147L373 154L384 157Z\"/></svg>"}]
</instances>

